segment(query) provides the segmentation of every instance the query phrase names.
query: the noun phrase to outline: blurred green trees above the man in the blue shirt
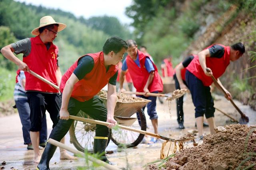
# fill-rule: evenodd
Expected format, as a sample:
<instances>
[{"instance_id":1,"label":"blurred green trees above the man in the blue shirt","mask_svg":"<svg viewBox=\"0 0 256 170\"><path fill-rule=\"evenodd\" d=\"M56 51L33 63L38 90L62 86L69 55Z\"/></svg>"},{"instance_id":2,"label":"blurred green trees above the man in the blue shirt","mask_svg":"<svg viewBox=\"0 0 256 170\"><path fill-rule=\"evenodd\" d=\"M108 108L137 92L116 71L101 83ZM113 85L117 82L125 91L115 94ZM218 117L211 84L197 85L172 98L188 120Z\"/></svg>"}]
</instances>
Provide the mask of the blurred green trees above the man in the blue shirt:
<instances>
[{"instance_id":1,"label":"blurred green trees above the man in the blue shirt","mask_svg":"<svg viewBox=\"0 0 256 170\"><path fill-rule=\"evenodd\" d=\"M197 0L190 3L174 0L134 0L126 8L126 14L134 19L134 34L139 45L148 47L148 52L158 65L168 55L173 56L174 66L180 62L180 55L196 38L195 33L202 25L201 8L211 1ZM222 0L216 4L218 15L225 12L230 3ZM147 10L143 10L143 9Z\"/></svg>"}]
</instances>

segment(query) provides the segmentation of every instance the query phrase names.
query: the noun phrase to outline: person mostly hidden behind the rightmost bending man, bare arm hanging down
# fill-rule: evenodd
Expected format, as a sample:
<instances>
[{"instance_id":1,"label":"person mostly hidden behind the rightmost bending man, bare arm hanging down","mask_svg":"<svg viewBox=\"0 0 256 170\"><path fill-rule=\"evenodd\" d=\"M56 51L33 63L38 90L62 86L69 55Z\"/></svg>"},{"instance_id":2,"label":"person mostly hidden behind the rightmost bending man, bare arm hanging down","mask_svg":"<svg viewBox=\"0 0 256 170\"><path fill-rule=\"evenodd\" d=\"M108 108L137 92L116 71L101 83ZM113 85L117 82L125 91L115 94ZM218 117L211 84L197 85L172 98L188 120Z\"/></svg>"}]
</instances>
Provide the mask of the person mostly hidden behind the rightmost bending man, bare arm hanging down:
<instances>
[{"instance_id":1,"label":"person mostly hidden behind the rightmost bending man, bare arm hanging down","mask_svg":"<svg viewBox=\"0 0 256 170\"><path fill-rule=\"evenodd\" d=\"M173 79L175 81L175 88L176 89L182 89L187 88L186 79L185 79L185 73L186 73L186 67L190 62L194 59L195 55L190 55L186 57L186 59L178 64L175 67L175 72L173 75ZM177 121L178 121L178 128L184 129L184 112L183 112L183 96L176 99L176 108L177 108Z\"/></svg>"}]
</instances>

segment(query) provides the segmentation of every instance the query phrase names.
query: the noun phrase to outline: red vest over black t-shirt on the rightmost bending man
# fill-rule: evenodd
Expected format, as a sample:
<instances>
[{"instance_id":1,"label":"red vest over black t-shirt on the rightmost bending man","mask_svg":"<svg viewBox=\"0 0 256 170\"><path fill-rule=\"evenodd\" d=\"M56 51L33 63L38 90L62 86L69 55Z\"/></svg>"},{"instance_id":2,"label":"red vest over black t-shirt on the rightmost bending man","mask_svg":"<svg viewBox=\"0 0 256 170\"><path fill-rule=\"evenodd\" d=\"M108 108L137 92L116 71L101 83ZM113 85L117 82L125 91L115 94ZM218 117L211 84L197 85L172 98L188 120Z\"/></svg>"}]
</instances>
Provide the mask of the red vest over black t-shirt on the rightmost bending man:
<instances>
[{"instance_id":1,"label":"red vest over black t-shirt on the rightmost bending man","mask_svg":"<svg viewBox=\"0 0 256 170\"><path fill-rule=\"evenodd\" d=\"M221 44L218 45L224 47L224 55L220 59L215 57L206 57L206 66L212 70L213 76L216 79L225 72L228 64L230 63L230 47ZM206 49L212 46L213 45L207 47ZM186 69L200 79L204 86L210 86L212 84L213 80L210 76L206 76L204 74L204 71L199 63L198 56L192 60Z\"/></svg>"}]
</instances>

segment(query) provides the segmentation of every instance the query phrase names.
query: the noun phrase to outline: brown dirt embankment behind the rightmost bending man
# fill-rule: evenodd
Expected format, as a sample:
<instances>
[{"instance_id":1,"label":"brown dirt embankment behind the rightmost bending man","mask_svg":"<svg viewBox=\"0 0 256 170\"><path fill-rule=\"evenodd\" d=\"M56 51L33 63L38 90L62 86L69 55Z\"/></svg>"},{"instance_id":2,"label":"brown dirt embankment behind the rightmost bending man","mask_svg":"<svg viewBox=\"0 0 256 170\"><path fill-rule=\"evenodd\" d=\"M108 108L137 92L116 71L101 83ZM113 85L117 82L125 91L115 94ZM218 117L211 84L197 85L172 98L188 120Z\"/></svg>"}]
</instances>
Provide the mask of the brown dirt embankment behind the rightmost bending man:
<instances>
[{"instance_id":1,"label":"brown dirt embankment behind the rightmost bending man","mask_svg":"<svg viewBox=\"0 0 256 170\"><path fill-rule=\"evenodd\" d=\"M243 57L236 62L230 62L223 76L220 77L222 84L228 89L232 96L250 105L256 110L256 78L255 69L244 70L254 66L251 62L249 51L256 51L255 36L256 20L255 15L247 10L242 10L236 6L231 6L216 21L208 25L206 31L199 35L182 54L183 57L190 53L202 51L202 49L212 44L223 44L230 46L234 43L242 42L245 45L246 52ZM235 82L238 84L234 84Z\"/></svg>"}]
</instances>

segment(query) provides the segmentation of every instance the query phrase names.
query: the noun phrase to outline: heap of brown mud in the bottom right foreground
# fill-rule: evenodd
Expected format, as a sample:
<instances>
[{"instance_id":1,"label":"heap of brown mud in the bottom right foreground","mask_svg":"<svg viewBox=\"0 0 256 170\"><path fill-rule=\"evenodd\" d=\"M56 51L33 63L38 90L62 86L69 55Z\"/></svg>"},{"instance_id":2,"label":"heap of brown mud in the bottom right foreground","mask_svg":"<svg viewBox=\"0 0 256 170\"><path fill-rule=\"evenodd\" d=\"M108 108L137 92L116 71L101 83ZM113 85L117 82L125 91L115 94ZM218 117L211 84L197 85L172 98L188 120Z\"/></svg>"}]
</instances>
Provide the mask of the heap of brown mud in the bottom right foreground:
<instances>
[{"instance_id":1,"label":"heap of brown mud in the bottom right foreground","mask_svg":"<svg viewBox=\"0 0 256 170\"><path fill-rule=\"evenodd\" d=\"M256 128L247 125L217 127L216 134L206 135L202 145L182 150L160 169L231 170L256 163ZM254 170L256 166L253 167ZM158 169L150 165L147 169Z\"/></svg>"}]
</instances>

